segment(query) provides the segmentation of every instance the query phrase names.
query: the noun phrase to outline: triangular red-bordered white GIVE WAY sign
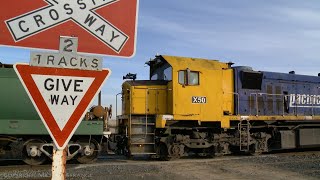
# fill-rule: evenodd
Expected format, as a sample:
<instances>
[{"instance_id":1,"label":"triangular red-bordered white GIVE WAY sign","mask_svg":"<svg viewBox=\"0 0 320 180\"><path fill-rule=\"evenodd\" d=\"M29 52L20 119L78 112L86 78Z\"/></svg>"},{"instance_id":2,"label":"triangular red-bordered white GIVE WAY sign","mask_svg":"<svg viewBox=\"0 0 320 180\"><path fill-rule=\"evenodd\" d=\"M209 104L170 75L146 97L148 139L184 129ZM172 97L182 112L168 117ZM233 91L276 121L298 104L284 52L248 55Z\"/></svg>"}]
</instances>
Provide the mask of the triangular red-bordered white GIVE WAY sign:
<instances>
[{"instance_id":1,"label":"triangular red-bordered white GIVE WAY sign","mask_svg":"<svg viewBox=\"0 0 320 180\"><path fill-rule=\"evenodd\" d=\"M111 73L27 64L14 69L58 149L66 147Z\"/></svg>"}]
</instances>

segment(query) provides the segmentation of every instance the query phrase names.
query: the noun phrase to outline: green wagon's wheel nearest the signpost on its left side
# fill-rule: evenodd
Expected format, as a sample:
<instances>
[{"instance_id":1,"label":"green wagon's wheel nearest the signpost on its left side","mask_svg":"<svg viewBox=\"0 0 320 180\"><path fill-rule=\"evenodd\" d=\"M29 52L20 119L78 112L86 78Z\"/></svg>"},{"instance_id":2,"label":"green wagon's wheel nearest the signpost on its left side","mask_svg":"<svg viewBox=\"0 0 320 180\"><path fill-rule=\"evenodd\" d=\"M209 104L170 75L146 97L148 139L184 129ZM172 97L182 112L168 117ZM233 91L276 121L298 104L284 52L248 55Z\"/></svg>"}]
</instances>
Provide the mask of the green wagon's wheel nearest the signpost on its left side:
<instances>
[{"instance_id":1,"label":"green wagon's wheel nearest the signpost on its left side","mask_svg":"<svg viewBox=\"0 0 320 180\"><path fill-rule=\"evenodd\" d=\"M40 156L38 155L30 155L28 151L33 150L33 152L39 151L39 148L36 147L36 144L39 143L46 143L41 139L29 139L23 144L22 148L22 160L29 165L41 165L43 164L48 158L44 153L41 153ZM27 149L29 148L29 149Z\"/></svg>"}]
</instances>

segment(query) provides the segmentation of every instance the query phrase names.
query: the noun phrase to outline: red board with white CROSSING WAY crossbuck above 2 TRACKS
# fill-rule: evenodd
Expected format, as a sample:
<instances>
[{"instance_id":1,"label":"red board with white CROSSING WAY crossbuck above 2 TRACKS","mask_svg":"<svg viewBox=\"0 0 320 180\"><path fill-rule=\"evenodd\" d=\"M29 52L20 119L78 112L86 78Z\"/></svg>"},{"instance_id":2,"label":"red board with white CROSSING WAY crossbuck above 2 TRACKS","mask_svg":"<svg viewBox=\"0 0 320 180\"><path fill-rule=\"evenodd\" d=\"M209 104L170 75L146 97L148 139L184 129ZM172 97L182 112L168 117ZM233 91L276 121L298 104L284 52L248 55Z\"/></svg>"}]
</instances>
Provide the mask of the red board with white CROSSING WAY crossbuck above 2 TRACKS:
<instances>
[{"instance_id":1,"label":"red board with white CROSSING WAY crossbuck above 2 TRACKS","mask_svg":"<svg viewBox=\"0 0 320 180\"><path fill-rule=\"evenodd\" d=\"M60 36L78 37L79 53L132 57L139 0L5 0L0 44L57 50Z\"/></svg>"}]
</instances>

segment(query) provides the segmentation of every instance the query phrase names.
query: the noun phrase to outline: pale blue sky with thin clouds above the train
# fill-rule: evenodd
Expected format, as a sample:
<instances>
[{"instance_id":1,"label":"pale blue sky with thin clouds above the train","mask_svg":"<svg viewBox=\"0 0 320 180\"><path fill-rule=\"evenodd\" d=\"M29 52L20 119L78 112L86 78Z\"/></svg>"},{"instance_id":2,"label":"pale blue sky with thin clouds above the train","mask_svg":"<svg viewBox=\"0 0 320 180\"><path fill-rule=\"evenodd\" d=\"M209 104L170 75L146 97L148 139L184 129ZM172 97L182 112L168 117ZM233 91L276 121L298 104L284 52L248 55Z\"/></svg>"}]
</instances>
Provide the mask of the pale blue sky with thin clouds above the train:
<instances>
[{"instance_id":1,"label":"pale blue sky with thin clouds above the train","mask_svg":"<svg viewBox=\"0 0 320 180\"><path fill-rule=\"evenodd\" d=\"M140 0L136 55L104 58L113 73L103 104L115 106L122 76L148 78L155 54L232 61L256 70L320 72L319 0ZM29 50L0 47L3 63L29 62Z\"/></svg>"}]
</instances>

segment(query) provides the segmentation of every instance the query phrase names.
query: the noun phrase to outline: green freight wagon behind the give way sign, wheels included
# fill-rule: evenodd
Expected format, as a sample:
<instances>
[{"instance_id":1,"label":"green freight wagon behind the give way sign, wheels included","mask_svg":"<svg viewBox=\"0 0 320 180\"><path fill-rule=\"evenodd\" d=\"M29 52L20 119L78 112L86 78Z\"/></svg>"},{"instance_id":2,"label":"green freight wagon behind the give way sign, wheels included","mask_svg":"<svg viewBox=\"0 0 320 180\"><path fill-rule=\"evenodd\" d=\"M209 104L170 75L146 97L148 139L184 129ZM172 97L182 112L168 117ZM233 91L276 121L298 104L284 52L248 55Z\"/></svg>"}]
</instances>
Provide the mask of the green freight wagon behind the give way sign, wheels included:
<instances>
[{"instance_id":1,"label":"green freight wagon behind the give way sign, wheels included","mask_svg":"<svg viewBox=\"0 0 320 180\"><path fill-rule=\"evenodd\" d=\"M94 106L68 145L68 159L95 160L106 127L105 109ZM0 63L0 158L20 159L31 165L52 157L53 143L12 65Z\"/></svg>"}]
</instances>

